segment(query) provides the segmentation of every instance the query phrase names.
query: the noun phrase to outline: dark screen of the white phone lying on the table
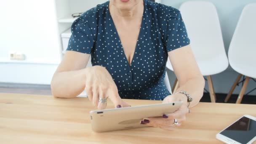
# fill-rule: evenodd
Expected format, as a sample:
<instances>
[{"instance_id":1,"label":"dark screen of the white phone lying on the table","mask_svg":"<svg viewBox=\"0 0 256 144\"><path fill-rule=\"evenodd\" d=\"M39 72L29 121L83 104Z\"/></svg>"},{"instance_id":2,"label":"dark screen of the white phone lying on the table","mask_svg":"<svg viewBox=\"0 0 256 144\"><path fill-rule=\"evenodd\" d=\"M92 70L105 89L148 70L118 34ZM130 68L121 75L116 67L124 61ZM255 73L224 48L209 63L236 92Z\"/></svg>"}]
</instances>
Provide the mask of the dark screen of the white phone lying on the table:
<instances>
[{"instance_id":1,"label":"dark screen of the white phone lying on the table","mask_svg":"<svg viewBox=\"0 0 256 144\"><path fill-rule=\"evenodd\" d=\"M221 134L237 142L246 144L256 136L256 121L248 117L242 117L222 131Z\"/></svg>"}]
</instances>

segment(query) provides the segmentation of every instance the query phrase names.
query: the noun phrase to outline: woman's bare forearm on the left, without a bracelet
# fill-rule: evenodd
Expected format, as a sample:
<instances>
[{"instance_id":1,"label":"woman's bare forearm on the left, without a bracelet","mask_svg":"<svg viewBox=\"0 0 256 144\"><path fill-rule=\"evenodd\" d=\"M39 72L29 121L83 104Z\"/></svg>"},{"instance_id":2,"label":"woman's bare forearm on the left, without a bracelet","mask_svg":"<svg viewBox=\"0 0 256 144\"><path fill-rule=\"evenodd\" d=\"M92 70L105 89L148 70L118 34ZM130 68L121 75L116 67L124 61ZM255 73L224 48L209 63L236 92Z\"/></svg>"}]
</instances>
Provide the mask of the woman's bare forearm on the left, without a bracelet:
<instances>
[{"instance_id":1,"label":"woman's bare forearm on the left, without a bracelet","mask_svg":"<svg viewBox=\"0 0 256 144\"><path fill-rule=\"evenodd\" d=\"M59 98L73 98L78 96L85 89L87 69L55 73L51 81L52 95Z\"/></svg>"}]
</instances>

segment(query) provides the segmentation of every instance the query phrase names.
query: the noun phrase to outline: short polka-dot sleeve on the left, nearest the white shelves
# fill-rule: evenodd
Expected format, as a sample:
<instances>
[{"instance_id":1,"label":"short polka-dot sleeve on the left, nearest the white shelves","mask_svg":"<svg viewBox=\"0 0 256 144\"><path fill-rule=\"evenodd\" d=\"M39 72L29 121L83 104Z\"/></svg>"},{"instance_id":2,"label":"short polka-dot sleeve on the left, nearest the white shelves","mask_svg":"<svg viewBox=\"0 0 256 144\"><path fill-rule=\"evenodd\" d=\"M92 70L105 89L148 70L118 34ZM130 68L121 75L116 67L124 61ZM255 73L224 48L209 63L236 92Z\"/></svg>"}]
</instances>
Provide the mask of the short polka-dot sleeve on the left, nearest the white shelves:
<instances>
[{"instance_id":1,"label":"short polka-dot sleeve on the left, nearest the white shelves","mask_svg":"<svg viewBox=\"0 0 256 144\"><path fill-rule=\"evenodd\" d=\"M87 22L82 17L76 19L71 26L71 32L72 35L69 39L67 51L90 54L94 40Z\"/></svg>"}]
</instances>

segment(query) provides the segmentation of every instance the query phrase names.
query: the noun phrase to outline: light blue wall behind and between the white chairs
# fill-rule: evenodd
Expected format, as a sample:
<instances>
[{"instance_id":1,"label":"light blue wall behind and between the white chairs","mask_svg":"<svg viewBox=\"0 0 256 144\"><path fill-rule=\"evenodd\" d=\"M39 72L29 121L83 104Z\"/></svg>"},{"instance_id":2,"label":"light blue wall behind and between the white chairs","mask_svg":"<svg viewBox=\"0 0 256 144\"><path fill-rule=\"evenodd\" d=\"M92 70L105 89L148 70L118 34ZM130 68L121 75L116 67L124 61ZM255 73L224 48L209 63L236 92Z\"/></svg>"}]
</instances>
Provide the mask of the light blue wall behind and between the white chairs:
<instances>
[{"instance_id":1,"label":"light blue wall behind and between the white chairs","mask_svg":"<svg viewBox=\"0 0 256 144\"><path fill-rule=\"evenodd\" d=\"M179 9L180 5L186 1L194 1L194 0L161 0L161 3L165 5L170 5L174 8ZM209 1L216 6L217 12L219 14L224 45L227 52L230 41L232 39L232 35L237 25L237 21L239 20L240 14L242 13L244 6L249 3L256 3L256 0L204 0L204 1ZM239 58L239 56L237 56L237 58ZM168 71L168 75L171 80L171 84L173 84L173 81L175 79L174 73L171 71ZM212 79L213 79L213 86L214 86L215 92L228 93L237 75L238 73L235 72L230 66L226 71L217 75L213 75ZM205 87L208 89L207 83ZM256 83L254 83L253 80L250 80L246 92L251 91L255 87L256 87ZM241 85L235 89L234 93L238 94L240 90L241 90ZM254 91L251 94L256 95L256 91Z\"/></svg>"}]
</instances>

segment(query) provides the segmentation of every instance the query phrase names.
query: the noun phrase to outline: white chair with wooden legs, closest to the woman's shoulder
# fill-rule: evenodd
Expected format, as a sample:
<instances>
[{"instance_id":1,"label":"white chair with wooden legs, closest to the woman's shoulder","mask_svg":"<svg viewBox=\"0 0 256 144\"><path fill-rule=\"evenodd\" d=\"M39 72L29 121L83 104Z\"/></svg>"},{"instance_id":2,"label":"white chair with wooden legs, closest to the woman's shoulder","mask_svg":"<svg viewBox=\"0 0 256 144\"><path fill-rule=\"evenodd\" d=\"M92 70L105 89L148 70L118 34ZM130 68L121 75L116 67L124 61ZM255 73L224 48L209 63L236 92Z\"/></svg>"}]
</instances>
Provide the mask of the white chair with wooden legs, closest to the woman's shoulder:
<instances>
[{"instance_id":1,"label":"white chair with wooden legs, closest to the woman's shoulder","mask_svg":"<svg viewBox=\"0 0 256 144\"><path fill-rule=\"evenodd\" d=\"M185 22L197 64L203 76L207 76L211 102L215 102L211 75L223 72L228 67L218 13L215 6L206 1L185 2L179 10ZM170 61L167 68L173 71ZM177 85L176 80L173 91L178 87Z\"/></svg>"}]
</instances>

